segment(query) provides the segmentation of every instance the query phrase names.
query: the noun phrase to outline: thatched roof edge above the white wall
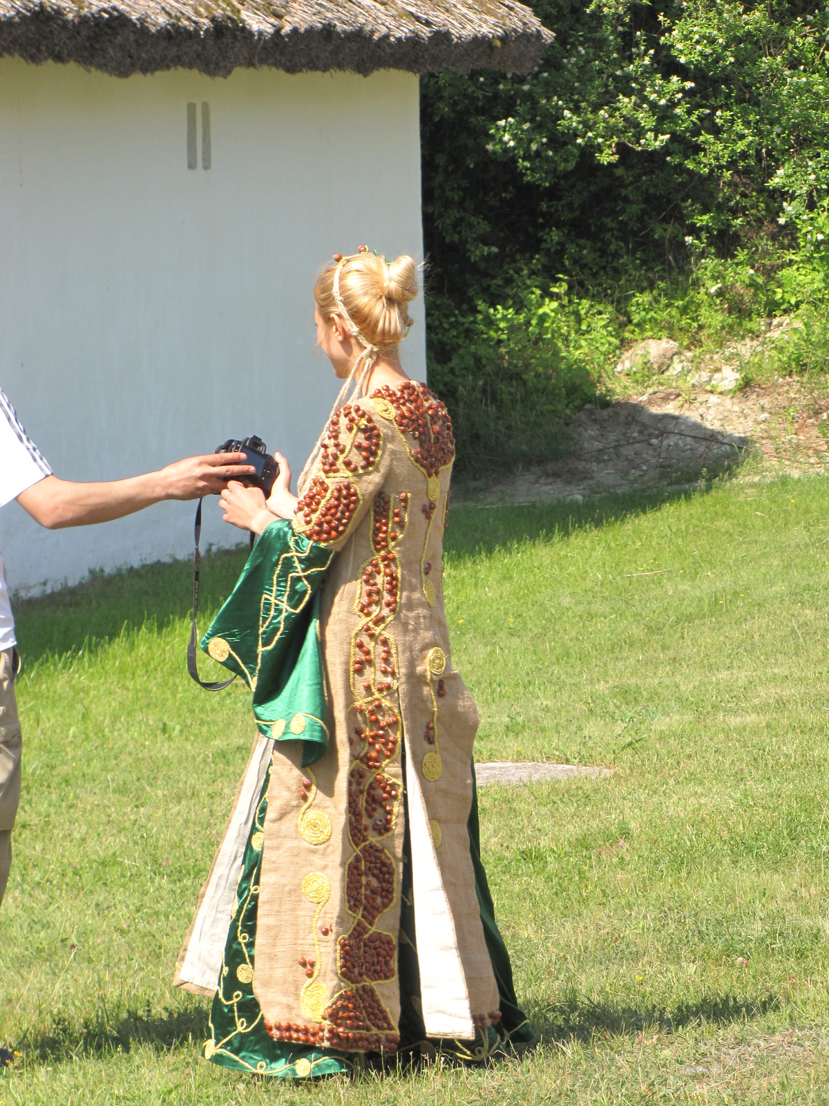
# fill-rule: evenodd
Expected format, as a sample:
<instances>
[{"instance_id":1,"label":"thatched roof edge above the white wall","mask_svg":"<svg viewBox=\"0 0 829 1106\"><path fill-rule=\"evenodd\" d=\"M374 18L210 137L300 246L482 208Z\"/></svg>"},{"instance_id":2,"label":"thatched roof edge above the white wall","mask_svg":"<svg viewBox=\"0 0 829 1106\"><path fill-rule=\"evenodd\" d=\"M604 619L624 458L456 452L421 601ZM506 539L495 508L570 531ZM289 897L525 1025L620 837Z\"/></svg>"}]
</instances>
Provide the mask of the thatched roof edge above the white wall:
<instances>
[{"instance_id":1,"label":"thatched roof edge above the white wall","mask_svg":"<svg viewBox=\"0 0 829 1106\"><path fill-rule=\"evenodd\" d=\"M115 76L237 66L522 73L552 40L512 0L0 0L0 55Z\"/></svg>"}]
</instances>

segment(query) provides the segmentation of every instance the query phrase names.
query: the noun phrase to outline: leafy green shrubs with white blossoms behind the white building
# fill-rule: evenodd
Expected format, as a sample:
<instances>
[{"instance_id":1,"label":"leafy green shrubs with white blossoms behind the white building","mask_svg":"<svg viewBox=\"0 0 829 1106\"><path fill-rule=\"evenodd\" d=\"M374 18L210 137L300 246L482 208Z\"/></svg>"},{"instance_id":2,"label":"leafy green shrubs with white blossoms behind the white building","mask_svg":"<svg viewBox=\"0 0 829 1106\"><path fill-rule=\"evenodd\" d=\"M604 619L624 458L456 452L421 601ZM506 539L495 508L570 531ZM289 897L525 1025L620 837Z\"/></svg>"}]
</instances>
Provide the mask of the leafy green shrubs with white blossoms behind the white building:
<instances>
[{"instance_id":1,"label":"leafy green shrubs with white blossoms behind the white building","mask_svg":"<svg viewBox=\"0 0 829 1106\"><path fill-rule=\"evenodd\" d=\"M552 456L621 341L797 313L780 367L822 365L829 6L531 2L556 32L533 73L421 82L429 368L459 458L507 424L515 459Z\"/></svg>"}]
</instances>

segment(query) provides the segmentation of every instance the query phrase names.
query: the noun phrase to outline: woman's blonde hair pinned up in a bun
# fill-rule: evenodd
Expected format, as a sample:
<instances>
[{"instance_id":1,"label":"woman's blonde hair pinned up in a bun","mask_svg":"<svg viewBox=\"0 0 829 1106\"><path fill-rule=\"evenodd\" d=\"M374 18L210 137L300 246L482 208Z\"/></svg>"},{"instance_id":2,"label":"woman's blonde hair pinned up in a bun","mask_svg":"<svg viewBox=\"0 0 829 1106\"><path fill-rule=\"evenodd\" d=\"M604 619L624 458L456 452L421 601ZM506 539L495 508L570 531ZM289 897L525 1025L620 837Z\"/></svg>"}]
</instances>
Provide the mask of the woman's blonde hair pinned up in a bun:
<instances>
[{"instance_id":1,"label":"woman's blonde hair pinned up in a bun","mask_svg":"<svg viewBox=\"0 0 829 1106\"><path fill-rule=\"evenodd\" d=\"M314 299L326 322L342 314L334 286L337 270L343 305L365 343L379 349L398 345L412 324L408 304L418 294L414 261L406 253L386 262L376 253L360 252L327 264L314 285Z\"/></svg>"}]
</instances>

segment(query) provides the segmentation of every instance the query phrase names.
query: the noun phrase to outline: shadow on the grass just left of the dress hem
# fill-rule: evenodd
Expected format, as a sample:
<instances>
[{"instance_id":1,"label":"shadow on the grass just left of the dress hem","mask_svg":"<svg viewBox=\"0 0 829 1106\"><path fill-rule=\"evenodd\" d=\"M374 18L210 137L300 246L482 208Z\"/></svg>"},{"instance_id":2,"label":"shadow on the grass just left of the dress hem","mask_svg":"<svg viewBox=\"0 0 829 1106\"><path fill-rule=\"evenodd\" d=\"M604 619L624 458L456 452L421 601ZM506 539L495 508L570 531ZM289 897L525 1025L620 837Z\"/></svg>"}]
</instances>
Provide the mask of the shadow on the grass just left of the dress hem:
<instances>
[{"instance_id":1,"label":"shadow on the grass just left of the dress hem","mask_svg":"<svg viewBox=\"0 0 829 1106\"><path fill-rule=\"evenodd\" d=\"M27 1033L14 1042L14 1047L39 1063L61 1063L78 1056L103 1057L116 1052L128 1053L141 1045L156 1052L169 1052L185 1043L202 1044L210 1035L208 1016L207 1005L167 1009L158 1014L153 1014L148 1006L144 1014L127 1010L118 1018L111 1018L106 1009L101 1008L94 1018L84 1019L80 1026L59 1015L45 1027Z\"/></svg>"}]
</instances>

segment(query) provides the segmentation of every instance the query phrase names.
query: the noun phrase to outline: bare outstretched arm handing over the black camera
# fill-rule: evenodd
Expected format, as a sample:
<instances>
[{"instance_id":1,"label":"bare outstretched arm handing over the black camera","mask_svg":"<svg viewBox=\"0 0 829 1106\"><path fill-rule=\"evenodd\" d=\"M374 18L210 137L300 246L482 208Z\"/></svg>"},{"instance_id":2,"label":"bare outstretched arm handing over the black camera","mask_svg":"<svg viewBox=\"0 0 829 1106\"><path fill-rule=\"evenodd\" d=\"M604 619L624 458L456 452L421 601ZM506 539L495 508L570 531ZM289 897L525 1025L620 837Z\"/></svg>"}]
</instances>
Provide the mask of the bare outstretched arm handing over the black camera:
<instances>
[{"instance_id":1,"label":"bare outstretched arm handing over the black camera","mask_svg":"<svg viewBox=\"0 0 829 1106\"><path fill-rule=\"evenodd\" d=\"M187 457L157 472L104 483L74 483L44 477L18 497L18 502L42 526L84 526L133 514L166 499L199 499L221 492L230 478L254 471L244 453L207 453Z\"/></svg>"}]
</instances>

